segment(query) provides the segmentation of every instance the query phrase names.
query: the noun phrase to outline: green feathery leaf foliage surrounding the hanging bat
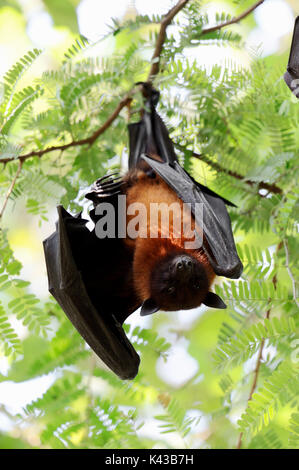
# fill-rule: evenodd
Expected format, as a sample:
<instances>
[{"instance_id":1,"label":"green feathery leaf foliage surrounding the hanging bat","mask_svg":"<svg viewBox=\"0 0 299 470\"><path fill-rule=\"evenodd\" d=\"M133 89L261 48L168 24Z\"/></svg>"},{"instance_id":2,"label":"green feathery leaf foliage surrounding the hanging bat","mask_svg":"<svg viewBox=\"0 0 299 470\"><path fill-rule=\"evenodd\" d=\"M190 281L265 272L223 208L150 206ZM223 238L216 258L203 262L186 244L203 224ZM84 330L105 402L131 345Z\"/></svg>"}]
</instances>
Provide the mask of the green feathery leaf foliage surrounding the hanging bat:
<instances>
[{"instance_id":1,"label":"green feathery leaf foliage surrounding the hanging bat","mask_svg":"<svg viewBox=\"0 0 299 470\"><path fill-rule=\"evenodd\" d=\"M45 2L51 11L52 3ZM70 8L76 1L67 3ZM229 19L219 13L216 23ZM0 89L3 201L20 155L91 136L134 83L146 80L148 51L160 21L147 16L115 21L107 36L115 44L109 57L95 57L96 45L80 37L57 70L45 71L30 85L23 86L23 80L41 51L28 52L12 66ZM5 227L13 224L9 214L24 210L40 224L47 224L56 204L73 213L86 210L85 189L107 169L123 167L127 110L92 146L25 159L0 232L0 354L9 364L0 382L45 375L53 382L22 413L10 416L15 426L33 428L38 444L24 432L20 440L0 435L0 446L152 448L158 441L160 447L231 448L240 433L247 448L299 446L294 354L299 344L299 105L282 80L286 57L252 57L250 69L233 63L206 69L187 58L191 47L200 55L200 48L210 44L239 47L241 37L225 29L202 36L208 18L197 1L175 21L176 34L167 36L155 77L159 113L185 168L237 205L229 210L245 268L242 278L217 283L216 291L228 303L225 312L201 309L184 327L175 313L156 315L147 329L126 325L142 362L136 379L122 382L97 361L57 303L39 300L29 277L19 277L22 265ZM74 25L74 15L69 22ZM138 119L140 103L134 95L132 120ZM1 164L7 159L12 161ZM279 191L261 183L275 184ZM199 373L180 386L168 385L156 363L182 338ZM254 377L257 388L248 401ZM199 417L209 423L206 432L198 431ZM142 432L149 419L158 426L156 438Z\"/></svg>"}]
</instances>

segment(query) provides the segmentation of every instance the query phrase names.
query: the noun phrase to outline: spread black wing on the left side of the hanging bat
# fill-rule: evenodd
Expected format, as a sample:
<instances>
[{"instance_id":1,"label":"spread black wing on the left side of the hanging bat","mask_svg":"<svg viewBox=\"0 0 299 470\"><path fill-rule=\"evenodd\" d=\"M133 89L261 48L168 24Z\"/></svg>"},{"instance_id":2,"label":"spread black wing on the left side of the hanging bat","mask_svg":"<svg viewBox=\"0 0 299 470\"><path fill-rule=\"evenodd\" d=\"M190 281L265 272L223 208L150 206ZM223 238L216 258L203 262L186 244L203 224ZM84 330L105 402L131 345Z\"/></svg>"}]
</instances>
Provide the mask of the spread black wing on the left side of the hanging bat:
<instances>
[{"instance_id":1,"label":"spread black wing on the left side of the hanging bat","mask_svg":"<svg viewBox=\"0 0 299 470\"><path fill-rule=\"evenodd\" d=\"M97 243L85 223L58 206L56 231L44 241L49 291L105 364L120 378L132 379L138 372L140 358L113 315L116 306L106 290L111 278L109 270L117 270L107 262L106 250L111 246ZM113 288L115 294L118 287L114 284Z\"/></svg>"}]
</instances>

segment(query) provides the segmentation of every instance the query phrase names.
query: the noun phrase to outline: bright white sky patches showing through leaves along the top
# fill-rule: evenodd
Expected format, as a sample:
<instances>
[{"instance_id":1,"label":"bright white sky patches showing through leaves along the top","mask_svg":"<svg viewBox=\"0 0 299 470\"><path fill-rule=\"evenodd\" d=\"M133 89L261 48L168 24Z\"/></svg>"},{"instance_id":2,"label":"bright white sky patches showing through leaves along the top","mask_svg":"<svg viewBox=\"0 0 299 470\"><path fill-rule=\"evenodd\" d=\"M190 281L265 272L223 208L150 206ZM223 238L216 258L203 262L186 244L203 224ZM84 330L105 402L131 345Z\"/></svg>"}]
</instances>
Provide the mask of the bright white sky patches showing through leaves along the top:
<instances>
[{"instance_id":1,"label":"bright white sky patches showing through leaves along the top","mask_svg":"<svg viewBox=\"0 0 299 470\"><path fill-rule=\"evenodd\" d=\"M23 3L30 3L36 0L21 0ZM109 32L109 27L112 25L112 18L121 19L127 11L128 4L135 4L139 14L142 15L163 15L175 3L174 0L82 0L77 7L77 17L80 33L86 36L91 42L94 42ZM233 15L232 7L228 6L221 1L213 1L208 4L206 11L211 20L211 25L214 24L215 13L219 11L226 11ZM196 59L199 63L205 65L207 69L212 67L215 63L224 64L232 61L233 63L240 63L242 66L249 65L250 56L258 55L267 56L275 53L281 46L281 39L291 34L294 26L294 14L291 7L285 0L265 0L265 3L260 5L254 11L254 16L257 22L257 27L254 28L248 35L246 46L243 51L233 50L226 48L225 53L218 46L202 46L200 48L200 56L197 48L186 49L185 53L189 59ZM47 48L59 44L63 40L63 32L54 28L51 16L40 7L30 10L28 16L27 34L30 37L35 47ZM104 43L101 47L95 49L95 53L105 54L107 44ZM1 52L1 46L0 46ZM5 54L2 51L2 58L4 59L0 64L1 71L5 71L5 56L9 58L10 54ZM10 65L10 64L9 64Z\"/></svg>"}]
</instances>

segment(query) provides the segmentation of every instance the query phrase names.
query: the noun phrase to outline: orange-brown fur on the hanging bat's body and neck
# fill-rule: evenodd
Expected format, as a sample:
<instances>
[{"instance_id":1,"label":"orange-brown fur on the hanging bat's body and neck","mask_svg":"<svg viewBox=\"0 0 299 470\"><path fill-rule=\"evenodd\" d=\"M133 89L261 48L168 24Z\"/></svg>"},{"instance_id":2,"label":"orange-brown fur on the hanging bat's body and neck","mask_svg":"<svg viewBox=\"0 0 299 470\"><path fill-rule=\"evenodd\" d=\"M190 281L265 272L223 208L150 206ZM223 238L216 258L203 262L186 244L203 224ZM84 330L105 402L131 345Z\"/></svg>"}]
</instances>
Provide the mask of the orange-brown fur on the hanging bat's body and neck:
<instances>
[{"instance_id":1,"label":"orange-brown fur on the hanging bat's body and neck","mask_svg":"<svg viewBox=\"0 0 299 470\"><path fill-rule=\"evenodd\" d=\"M182 252L196 258L205 267L209 285L212 283L215 273L202 249L185 248L186 241L192 241L194 238L195 220L192 217L192 223L189 230L181 223L181 234L177 233L179 226L178 220L182 221L183 203L176 193L158 176L151 179L143 171L136 171L131 174L134 184L127 191L127 208L130 204L142 203L146 208L147 220L143 221L146 227L145 238L141 236L136 239L127 237L125 243L134 249L133 277L137 294L141 301L149 298L150 277L154 267L165 256L170 254L180 254ZM165 226L162 217L158 218L158 225L155 228L158 237L150 238L150 204L166 203L168 205L179 204L179 211L170 213L169 224ZM132 221L135 215L127 216L127 224ZM179 218L177 220L177 218ZM169 227L168 227L169 225ZM196 227L197 230L198 227Z\"/></svg>"}]
</instances>

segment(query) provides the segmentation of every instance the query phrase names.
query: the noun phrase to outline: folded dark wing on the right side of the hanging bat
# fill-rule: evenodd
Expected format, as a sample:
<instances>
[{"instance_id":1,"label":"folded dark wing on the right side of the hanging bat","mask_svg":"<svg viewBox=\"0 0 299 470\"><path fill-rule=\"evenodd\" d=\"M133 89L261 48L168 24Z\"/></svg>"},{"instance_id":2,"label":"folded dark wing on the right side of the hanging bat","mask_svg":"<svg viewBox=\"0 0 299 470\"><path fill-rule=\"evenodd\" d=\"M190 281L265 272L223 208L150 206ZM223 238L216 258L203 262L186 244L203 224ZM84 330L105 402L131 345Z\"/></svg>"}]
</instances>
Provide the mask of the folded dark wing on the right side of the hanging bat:
<instances>
[{"instance_id":1,"label":"folded dark wing on the right side of the hanging bat","mask_svg":"<svg viewBox=\"0 0 299 470\"><path fill-rule=\"evenodd\" d=\"M196 220L203 229L203 249L219 276L231 279L240 277L243 265L238 256L231 222L221 197L204 186L194 184L193 178L177 163L173 166L143 156L151 168L177 193L179 198L191 205L194 216L195 204L203 204L203 221Z\"/></svg>"}]
</instances>

